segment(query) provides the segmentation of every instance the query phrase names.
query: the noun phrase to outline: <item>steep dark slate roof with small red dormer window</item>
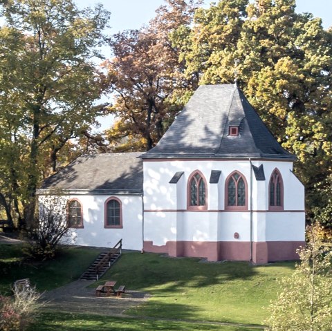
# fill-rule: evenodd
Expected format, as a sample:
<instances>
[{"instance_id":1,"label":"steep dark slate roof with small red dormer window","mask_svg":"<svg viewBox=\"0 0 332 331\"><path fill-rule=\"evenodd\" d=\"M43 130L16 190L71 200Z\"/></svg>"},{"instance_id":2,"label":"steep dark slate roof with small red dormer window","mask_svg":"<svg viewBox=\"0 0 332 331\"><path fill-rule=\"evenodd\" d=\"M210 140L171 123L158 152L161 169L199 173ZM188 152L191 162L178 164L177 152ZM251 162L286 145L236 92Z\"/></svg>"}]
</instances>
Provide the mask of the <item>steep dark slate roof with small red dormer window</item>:
<instances>
[{"instance_id":1,"label":"steep dark slate roof with small red dormer window","mask_svg":"<svg viewBox=\"0 0 332 331\"><path fill-rule=\"evenodd\" d=\"M239 126L239 135L229 135ZM203 85L160 142L141 158L270 158L295 160L268 131L236 85Z\"/></svg>"}]
</instances>

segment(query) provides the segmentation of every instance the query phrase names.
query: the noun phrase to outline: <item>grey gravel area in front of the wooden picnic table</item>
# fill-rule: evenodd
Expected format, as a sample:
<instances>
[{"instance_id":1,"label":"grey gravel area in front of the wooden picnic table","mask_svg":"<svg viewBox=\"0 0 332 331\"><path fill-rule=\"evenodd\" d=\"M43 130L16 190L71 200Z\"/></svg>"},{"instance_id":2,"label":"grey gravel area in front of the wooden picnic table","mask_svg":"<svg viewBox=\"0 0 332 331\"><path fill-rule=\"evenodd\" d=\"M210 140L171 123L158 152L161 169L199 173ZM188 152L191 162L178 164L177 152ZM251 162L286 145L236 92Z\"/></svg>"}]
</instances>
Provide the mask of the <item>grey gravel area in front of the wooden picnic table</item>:
<instances>
[{"instance_id":1,"label":"grey gravel area in front of the wooden picnic table","mask_svg":"<svg viewBox=\"0 0 332 331\"><path fill-rule=\"evenodd\" d=\"M43 310L117 316L149 298L149 294L131 290L126 290L121 298L98 297L95 296L94 288L87 287L92 283L93 281L74 281L45 292L42 296L46 302Z\"/></svg>"}]
</instances>

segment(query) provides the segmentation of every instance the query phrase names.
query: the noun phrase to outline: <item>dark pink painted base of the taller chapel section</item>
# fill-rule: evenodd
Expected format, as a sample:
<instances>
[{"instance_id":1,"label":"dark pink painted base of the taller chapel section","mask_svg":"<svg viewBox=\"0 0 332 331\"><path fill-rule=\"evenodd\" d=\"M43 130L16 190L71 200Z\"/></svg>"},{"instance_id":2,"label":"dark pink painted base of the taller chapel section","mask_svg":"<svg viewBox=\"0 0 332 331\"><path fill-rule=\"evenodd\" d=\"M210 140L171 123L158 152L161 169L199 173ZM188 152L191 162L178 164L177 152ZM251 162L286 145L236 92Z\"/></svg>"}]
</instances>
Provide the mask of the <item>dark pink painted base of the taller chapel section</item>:
<instances>
[{"instance_id":1,"label":"dark pink painted base of the taller chapel section","mask_svg":"<svg viewBox=\"0 0 332 331\"><path fill-rule=\"evenodd\" d=\"M271 241L252 243L252 262L264 264L273 261L297 260L296 249L305 245L302 241ZM144 242L144 251L166 253L169 256L208 258L208 261L250 261L250 242L219 241L168 241L156 246L152 241Z\"/></svg>"}]
</instances>

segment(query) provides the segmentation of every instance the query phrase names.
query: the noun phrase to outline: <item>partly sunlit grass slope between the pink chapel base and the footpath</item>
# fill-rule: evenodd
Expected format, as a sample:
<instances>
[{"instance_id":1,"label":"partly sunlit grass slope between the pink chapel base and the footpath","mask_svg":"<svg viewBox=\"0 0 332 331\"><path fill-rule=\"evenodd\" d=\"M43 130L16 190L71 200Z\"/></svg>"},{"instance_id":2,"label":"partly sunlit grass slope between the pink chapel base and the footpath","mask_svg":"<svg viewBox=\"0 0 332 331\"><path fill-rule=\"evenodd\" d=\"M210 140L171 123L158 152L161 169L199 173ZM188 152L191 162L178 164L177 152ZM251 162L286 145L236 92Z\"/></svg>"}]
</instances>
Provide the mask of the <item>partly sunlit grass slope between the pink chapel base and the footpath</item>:
<instances>
[{"instance_id":1,"label":"partly sunlit grass slope between the pink chapel base and the footpath","mask_svg":"<svg viewBox=\"0 0 332 331\"><path fill-rule=\"evenodd\" d=\"M274 299L276 278L293 272L294 263L200 263L195 258L123 254L102 278L118 281L152 298L127 314L185 320L261 324L263 307Z\"/></svg>"}]
</instances>

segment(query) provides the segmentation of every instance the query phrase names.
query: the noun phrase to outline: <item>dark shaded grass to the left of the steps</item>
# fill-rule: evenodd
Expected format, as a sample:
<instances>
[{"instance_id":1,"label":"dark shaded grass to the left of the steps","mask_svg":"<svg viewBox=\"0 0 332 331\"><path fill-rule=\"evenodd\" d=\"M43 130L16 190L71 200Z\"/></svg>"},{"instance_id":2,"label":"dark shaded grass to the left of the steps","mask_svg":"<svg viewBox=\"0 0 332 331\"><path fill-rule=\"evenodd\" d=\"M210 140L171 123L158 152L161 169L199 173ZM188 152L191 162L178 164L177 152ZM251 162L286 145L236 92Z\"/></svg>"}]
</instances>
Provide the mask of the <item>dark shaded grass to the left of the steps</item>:
<instances>
[{"instance_id":1,"label":"dark shaded grass to the left of the steps","mask_svg":"<svg viewBox=\"0 0 332 331\"><path fill-rule=\"evenodd\" d=\"M0 244L0 293L10 294L17 279L30 278L37 290L44 292L76 280L98 256L100 249L66 247L51 260L29 263L21 245Z\"/></svg>"}]
</instances>

